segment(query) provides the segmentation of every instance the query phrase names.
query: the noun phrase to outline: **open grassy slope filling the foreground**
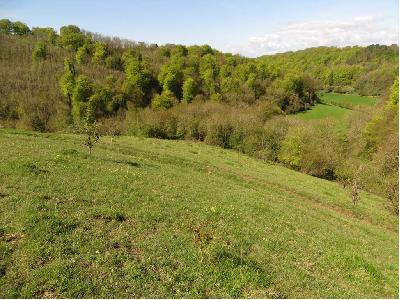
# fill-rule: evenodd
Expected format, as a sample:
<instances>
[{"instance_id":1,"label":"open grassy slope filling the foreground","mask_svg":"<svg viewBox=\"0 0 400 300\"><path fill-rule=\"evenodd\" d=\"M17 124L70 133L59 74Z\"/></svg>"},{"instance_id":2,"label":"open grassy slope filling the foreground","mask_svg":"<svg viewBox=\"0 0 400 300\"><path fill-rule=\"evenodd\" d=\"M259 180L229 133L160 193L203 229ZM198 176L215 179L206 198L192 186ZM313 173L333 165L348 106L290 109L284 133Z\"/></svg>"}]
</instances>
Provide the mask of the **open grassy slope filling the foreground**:
<instances>
[{"instance_id":1,"label":"open grassy slope filling the foreground","mask_svg":"<svg viewBox=\"0 0 400 300\"><path fill-rule=\"evenodd\" d=\"M81 145L0 131L0 297L398 296L379 197L203 144Z\"/></svg>"}]
</instances>

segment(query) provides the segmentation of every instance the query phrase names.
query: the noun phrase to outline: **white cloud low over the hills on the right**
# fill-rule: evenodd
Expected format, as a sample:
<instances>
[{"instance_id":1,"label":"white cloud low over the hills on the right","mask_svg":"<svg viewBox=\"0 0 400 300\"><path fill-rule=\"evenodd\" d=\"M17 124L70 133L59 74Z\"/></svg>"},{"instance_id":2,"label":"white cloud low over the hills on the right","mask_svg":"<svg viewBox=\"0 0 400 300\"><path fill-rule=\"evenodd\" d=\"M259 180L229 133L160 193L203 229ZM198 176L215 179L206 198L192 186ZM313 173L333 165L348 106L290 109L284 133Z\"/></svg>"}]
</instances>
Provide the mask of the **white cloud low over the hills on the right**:
<instances>
[{"instance_id":1,"label":"white cloud low over the hills on the right","mask_svg":"<svg viewBox=\"0 0 400 300\"><path fill-rule=\"evenodd\" d=\"M388 26L383 18L360 16L342 21L290 23L264 36L251 37L245 45L228 46L228 51L257 56L318 46L397 43L397 26Z\"/></svg>"}]
</instances>

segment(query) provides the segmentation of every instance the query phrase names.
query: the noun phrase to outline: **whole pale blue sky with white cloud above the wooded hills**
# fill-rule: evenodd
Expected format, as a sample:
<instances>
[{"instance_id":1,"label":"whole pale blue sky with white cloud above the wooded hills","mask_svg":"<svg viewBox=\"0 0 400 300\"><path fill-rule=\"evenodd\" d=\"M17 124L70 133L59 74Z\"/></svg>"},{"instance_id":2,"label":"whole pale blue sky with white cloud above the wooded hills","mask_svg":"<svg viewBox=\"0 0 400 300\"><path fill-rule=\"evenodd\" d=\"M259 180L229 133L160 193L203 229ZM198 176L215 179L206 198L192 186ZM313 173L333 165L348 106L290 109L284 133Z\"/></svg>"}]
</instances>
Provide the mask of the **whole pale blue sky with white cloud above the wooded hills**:
<instances>
[{"instance_id":1,"label":"whole pale blue sky with white cloud above the wooded hills","mask_svg":"<svg viewBox=\"0 0 400 300\"><path fill-rule=\"evenodd\" d=\"M0 0L0 19L75 24L138 42L209 44L255 57L317 46L398 44L398 0Z\"/></svg>"}]
</instances>

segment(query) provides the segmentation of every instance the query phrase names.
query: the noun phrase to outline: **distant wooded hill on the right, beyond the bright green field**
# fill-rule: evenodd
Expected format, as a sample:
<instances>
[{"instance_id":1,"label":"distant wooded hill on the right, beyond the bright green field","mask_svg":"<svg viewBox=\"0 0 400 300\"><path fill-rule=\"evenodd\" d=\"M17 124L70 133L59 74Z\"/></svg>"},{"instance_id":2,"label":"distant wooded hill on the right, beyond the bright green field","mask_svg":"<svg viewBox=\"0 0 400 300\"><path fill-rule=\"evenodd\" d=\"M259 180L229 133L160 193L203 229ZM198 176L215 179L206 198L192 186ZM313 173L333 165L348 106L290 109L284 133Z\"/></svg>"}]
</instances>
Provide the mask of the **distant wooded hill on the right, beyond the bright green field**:
<instances>
[{"instance_id":1,"label":"distant wooded hill on the right, beyond the bright green field","mask_svg":"<svg viewBox=\"0 0 400 300\"><path fill-rule=\"evenodd\" d=\"M398 46L317 47L257 60L271 77L307 72L328 91L381 95L396 76Z\"/></svg>"}]
</instances>

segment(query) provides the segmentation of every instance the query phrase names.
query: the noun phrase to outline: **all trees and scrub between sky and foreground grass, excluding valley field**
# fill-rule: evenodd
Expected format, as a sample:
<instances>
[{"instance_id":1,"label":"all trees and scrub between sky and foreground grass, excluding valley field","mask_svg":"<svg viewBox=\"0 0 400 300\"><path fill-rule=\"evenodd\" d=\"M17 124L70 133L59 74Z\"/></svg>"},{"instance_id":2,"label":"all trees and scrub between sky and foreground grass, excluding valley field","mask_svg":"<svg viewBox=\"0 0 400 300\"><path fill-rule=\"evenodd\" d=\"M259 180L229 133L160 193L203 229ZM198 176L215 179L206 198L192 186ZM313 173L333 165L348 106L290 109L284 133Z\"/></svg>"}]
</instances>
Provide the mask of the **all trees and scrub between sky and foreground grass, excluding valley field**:
<instances>
[{"instance_id":1,"label":"all trees and scrub between sky and foreground grass, excluding valley field","mask_svg":"<svg viewBox=\"0 0 400 300\"><path fill-rule=\"evenodd\" d=\"M2 126L57 131L99 123L103 134L195 139L314 176L358 178L397 197L397 45L251 59L208 45L147 45L74 25L58 34L9 20L0 20L0 44ZM345 133L329 121L284 116L309 109L318 91L383 101L350 120ZM360 165L371 172L358 172Z\"/></svg>"}]
</instances>

